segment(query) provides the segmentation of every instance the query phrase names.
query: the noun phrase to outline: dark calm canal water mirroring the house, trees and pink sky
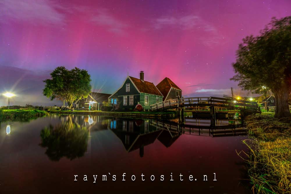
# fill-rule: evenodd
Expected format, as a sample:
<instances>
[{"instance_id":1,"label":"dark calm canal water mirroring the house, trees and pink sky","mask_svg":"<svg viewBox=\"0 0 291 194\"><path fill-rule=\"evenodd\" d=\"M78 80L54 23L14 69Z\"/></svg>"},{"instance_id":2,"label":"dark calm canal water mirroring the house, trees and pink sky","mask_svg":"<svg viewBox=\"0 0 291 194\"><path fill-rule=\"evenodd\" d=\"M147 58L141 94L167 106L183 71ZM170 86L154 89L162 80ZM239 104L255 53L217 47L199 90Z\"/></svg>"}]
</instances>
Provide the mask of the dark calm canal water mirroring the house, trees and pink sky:
<instances>
[{"instance_id":1,"label":"dark calm canal water mirroring the house, trees and pink sky","mask_svg":"<svg viewBox=\"0 0 291 194\"><path fill-rule=\"evenodd\" d=\"M57 114L2 122L0 193L250 193L237 155L248 136L214 135L211 123Z\"/></svg>"}]
</instances>

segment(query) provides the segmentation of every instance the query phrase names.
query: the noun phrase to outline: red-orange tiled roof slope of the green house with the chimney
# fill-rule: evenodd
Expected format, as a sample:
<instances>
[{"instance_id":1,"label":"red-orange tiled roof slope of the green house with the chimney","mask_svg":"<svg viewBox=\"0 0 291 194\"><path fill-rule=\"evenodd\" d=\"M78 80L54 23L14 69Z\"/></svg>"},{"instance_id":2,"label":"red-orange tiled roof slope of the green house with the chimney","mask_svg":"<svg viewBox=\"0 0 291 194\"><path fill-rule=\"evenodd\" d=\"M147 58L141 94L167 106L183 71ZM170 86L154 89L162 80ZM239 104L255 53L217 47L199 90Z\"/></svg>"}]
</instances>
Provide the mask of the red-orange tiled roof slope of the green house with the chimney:
<instances>
[{"instance_id":1,"label":"red-orange tiled roof slope of the green house with the chimney","mask_svg":"<svg viewBox=\"0 0 291 194\"><path fill-rule=\"evenodd\" d=\"M129 78L132 80L132 82L134 83L136 88L139 89L140 92L146 93L146 94L163 96L161 92L157 89L155 84L148 81L141 81L140 79L137 79L131 76L129 76Z\"/></svg>"}]
</instances>

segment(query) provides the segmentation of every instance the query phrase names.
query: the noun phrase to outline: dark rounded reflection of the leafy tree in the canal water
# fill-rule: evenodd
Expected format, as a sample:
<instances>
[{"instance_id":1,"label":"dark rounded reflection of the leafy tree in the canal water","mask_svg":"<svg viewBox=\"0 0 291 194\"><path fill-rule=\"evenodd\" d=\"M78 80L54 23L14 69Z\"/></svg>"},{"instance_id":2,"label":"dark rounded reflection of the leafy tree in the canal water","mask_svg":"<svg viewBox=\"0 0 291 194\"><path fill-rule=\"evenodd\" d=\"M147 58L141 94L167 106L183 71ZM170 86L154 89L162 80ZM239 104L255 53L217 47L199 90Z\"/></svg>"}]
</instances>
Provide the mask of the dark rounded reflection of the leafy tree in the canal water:
<instances>
[{"instance_id":1,"label":"dark rounded reflection of the leafy tree in the canal water","mask_svg":"<svg viewBox=\"0 0 291 194\"><path fill-rule=\"evenodd\" d=\"M40 145L47 147L45 154L52 161L59 161L64 156L70 160L84 156L89 131L78 124L72 115L66 115L61 120L62 124L50 125L40 132Z\"/></svg>"}]
</instances>

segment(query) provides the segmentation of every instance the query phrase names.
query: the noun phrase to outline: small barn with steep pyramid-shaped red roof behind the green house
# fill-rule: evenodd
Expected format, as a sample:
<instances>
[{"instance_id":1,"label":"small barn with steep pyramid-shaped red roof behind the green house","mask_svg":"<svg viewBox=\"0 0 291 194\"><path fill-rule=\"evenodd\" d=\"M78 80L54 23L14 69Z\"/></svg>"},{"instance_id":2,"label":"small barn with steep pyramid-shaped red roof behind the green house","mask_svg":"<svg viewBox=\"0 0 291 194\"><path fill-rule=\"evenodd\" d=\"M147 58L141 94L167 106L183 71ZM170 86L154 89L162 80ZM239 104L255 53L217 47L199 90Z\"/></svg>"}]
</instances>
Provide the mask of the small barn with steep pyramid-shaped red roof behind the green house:
<instances>
[{"instance_id":1,"label":"small barn with steep pyramid-shaped red roof behind the green house","mask_svg":"<svg viewBox=\"0 0 291 194\"><path fill-rule=\"evenodd\" d=\"M157 88L164 96L163 101L182 98L182 90L168 77L158 83Z\"/></svg>"}]
</instances>

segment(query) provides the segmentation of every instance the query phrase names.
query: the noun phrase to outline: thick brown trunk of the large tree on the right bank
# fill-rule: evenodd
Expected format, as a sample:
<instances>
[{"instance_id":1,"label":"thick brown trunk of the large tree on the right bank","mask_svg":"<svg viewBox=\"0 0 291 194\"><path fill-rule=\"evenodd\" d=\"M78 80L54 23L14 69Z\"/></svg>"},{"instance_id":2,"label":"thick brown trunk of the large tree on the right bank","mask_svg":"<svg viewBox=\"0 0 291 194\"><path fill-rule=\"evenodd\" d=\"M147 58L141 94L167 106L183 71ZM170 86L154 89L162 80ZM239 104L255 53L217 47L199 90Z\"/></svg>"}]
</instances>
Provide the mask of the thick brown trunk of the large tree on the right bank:
<instances>
[{"instance_id":1,"label":"thick brown trunk of the large tree on the right bank","mask_svg":"<svg viewBox=\"0 0 291 194\"><path fill-rule=\"evenodd\" d=\"M288 106L288 97L290 91L285 88L281 88L274 91L275 95L275 118L291 117L291 113Z\"/></svg>"}]
</instances>

